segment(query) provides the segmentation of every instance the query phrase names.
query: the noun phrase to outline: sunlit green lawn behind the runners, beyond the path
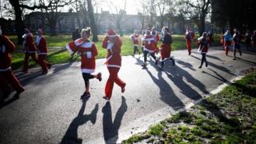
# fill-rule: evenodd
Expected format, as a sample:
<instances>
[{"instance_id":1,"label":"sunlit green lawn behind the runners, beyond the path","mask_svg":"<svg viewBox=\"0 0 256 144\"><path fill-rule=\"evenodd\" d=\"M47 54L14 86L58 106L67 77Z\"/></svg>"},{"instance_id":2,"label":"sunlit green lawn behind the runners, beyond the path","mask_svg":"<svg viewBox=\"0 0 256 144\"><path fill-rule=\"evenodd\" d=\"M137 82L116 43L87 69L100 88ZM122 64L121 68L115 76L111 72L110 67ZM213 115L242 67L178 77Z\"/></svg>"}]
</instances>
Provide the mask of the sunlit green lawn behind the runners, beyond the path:
<instances>
[{"instance_id":1,"label":"sunlit green lawn behind the runners, beyond the path","mask_svg":"<svg viewBox=\"0 0 256 144\"><path fill-rule=\"evenodd\" d=\"M216 35L216 37L219 37ZM16 36L9 36L12 42L17 42ZM99 36L99 41L95 42L96 47L98 48L98 58L105 58L106 56L106 50L102 49L102 39L104 38L103 35ZM216 38L219 39L219 38ZM65 63L69 62L70 54L68 51L63 50L66 46L66 43L70 42L71 36L70 35L58 35L58 36L48 36L46 35L46 41L47 45L50 48L50 54L47 56L47 60L51 62L52 64L57 63ZM172 50L184 50L186 49L186 40L183 38L183 35L173 35L173 44L172 44ZM130 36L126 35L122 37L122 55L131 55L133 54L133 44L130 40ZM218 45L218 40L214 41L214 46ZM160 46L160 42L158 42L158 46ZM193 42L193 46L195 47L196 44ZM13 62L12 62L12 69L18 70L22 67L22 62L24 58L24 54L21 54L18 51L22 51L22 46L17 46L18 50L13 56ZM61 47L63 49L57 49L56 47ZM139 49L141 50L141 49ZM79 60L79 58L76 58L74 60ZM37 66L33 61L30 61L30 67Z\"/></svg>"}]
</instances>

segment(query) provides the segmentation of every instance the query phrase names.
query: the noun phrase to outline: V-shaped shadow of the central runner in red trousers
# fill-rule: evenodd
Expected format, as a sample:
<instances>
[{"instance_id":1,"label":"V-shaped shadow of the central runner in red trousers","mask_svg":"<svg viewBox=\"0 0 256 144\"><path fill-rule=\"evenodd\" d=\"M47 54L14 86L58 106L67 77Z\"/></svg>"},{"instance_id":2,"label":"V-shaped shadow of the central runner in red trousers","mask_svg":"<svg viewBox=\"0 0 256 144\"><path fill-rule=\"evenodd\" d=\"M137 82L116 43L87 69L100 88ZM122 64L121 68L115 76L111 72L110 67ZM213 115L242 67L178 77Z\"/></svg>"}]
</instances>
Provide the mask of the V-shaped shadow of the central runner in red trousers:
<instances>
[{"instance_id":1,"label":"V-shaped shadow of the central runner in red trousers","mask_svg":"<svg viewBox=\"0 0 256 144\"><path fill-rule=\"evenodd\" d=\"M126 98L122 96L122 105L119 107L115 115L114 122L112 122L112 111L110 102L106 102L102 107L103 113L103 134L106 143L116 143L118 141L118 130L121 126L122 117L126 113L127 104Z\"/></svg>"}]
</instances>

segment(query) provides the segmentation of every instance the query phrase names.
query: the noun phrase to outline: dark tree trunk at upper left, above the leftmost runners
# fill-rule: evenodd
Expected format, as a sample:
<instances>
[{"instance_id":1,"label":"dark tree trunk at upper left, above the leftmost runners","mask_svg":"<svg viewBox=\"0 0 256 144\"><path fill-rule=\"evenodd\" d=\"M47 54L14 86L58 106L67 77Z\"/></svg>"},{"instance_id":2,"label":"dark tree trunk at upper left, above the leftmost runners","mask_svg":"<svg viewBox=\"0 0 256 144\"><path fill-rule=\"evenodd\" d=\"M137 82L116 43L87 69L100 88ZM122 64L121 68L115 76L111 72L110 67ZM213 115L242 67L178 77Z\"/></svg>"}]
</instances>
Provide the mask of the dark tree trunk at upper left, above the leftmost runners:
<instances>
[{"instance_id":1,"label":"dark tree trunk at upper left, above the leftmost runners","mask_svg":"<svg viewBox=\"0 0 256 144\"><path fill-rule=\"evenodd\" d=\"M14 7L14 13L15 13L15 30L18 36L18 45L22 44L22 34L24 34L24 22L22 20L22 10L19 5L19 1L12 1L9 0L11 6Z\"/></svg>"}]
</instances>

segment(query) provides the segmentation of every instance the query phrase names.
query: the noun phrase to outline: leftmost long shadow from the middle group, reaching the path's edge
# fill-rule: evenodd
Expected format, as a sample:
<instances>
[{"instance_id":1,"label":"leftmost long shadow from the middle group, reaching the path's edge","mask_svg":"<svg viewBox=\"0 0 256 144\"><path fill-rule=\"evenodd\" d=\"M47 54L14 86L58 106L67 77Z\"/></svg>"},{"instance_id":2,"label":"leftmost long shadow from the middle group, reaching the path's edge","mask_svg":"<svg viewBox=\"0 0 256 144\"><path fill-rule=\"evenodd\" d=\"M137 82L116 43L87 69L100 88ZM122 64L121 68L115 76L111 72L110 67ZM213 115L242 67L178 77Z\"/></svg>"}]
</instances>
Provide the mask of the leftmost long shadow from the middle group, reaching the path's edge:
<instances>
[{"instance_id":1,"label":"leftmost long shadow from the middle group, reaching the path's edge","mask_svg":"<svg viewBox=\"0 0 256 144\"><path fill-rule=\"evenodd\" d=\"M166 102L166 104L171 106L174 110L184 107L183 102L174 94L174 90L172 90L166 80L162 78L162 71L158 72L158 78L154 78L149 70L145 70L150 75L150 78L152 78L155 85L159 87L161 100L163 102Z\"/></svg>"}]
</instances>

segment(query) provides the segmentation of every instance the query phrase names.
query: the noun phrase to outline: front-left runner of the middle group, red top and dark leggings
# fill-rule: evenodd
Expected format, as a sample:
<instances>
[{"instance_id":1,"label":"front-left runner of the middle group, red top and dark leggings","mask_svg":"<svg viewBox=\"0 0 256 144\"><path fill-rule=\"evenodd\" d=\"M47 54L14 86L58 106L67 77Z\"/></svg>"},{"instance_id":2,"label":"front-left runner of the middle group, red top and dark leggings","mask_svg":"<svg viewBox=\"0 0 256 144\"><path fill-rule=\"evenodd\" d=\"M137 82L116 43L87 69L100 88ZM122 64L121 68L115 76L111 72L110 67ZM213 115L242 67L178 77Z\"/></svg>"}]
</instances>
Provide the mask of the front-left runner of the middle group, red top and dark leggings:
<instances>
[{"instance_id":1,"label":"front-left runner of the middle group, red top and dark leggings","mask_svg":"<svg viewBox=\"0 0 256 144\"><path fill-rule=\"evenodd\" d=\"M152 58L154 58L155 64L158 64L158 59L154 55L154 46L155 41L153 35L150 34L150 28L146 29L146 35L142 38L142 45L143 45L143 55L144 55L144 63L142 64L143 67L146 67L147 63L147 54L150 54Z\"/></svg>"}]
</instances>

